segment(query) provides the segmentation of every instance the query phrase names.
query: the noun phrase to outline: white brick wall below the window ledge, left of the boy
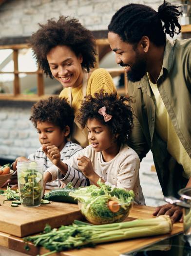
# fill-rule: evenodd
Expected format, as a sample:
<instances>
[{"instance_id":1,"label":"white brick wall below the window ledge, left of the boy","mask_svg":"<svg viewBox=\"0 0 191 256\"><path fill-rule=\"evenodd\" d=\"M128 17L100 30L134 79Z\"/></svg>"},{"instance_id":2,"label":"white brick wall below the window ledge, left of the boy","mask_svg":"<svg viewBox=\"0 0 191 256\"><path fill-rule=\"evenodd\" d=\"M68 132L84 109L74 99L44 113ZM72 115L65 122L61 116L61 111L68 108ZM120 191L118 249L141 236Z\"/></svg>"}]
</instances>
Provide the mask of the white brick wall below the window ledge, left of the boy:
<instances>
[{"instance_id":1,"label":"white brick wall below the window ledge, left of the boy","mask_svg":"<svg viewBox=\"0 0 191 256\"><path fill-rule=\"evenodd\" d=\"M28 157L38 149L38 133L30 114L30 107L0 107L0 158Z\"/></svg>"}]
</instances>

